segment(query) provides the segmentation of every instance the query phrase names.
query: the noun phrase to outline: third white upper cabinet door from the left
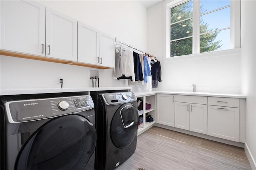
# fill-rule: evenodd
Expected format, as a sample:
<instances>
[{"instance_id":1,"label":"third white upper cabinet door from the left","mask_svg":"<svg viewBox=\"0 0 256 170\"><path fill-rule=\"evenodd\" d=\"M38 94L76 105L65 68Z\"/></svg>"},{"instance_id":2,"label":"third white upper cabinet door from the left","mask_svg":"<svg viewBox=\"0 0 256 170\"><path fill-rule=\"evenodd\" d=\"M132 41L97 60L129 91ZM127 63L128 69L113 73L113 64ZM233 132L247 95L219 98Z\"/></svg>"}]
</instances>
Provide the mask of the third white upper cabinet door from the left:
<instances>
[{"instance_id":1,"label":"third white upper cabinet door from the left","mask_svg":"<svg viewBox=\"0 0 256 170\"><path fill-rule=\"evenodd\" d=\"M98 30L78 22L78 62L99 64L99 34Z\"/></svg>"}]
</instances>

